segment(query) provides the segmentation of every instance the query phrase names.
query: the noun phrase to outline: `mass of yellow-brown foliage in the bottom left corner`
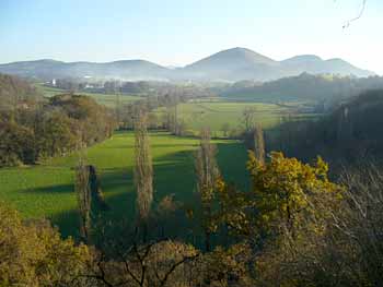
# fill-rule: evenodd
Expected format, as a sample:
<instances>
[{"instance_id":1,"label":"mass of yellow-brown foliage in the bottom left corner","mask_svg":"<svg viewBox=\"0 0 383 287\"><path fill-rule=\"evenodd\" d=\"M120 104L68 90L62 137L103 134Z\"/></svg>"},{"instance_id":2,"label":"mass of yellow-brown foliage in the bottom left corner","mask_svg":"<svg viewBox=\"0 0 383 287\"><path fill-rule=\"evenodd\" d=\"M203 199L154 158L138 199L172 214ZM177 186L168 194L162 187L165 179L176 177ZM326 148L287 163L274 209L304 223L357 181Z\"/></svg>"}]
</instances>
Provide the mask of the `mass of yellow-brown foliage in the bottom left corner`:
<instances>
[{"instance_id":1,"label":"mass of yellow-brown foliage in the bottom left corner","mask_svg":"<svg viewBox=\"0 0 383 287\"><path fill-rule=\"evenodd\" d=\"M24 224L0 204L0 286L71 286L91 259L85 246L62 240L47 222Z\"/></svg>"}]
</instances>

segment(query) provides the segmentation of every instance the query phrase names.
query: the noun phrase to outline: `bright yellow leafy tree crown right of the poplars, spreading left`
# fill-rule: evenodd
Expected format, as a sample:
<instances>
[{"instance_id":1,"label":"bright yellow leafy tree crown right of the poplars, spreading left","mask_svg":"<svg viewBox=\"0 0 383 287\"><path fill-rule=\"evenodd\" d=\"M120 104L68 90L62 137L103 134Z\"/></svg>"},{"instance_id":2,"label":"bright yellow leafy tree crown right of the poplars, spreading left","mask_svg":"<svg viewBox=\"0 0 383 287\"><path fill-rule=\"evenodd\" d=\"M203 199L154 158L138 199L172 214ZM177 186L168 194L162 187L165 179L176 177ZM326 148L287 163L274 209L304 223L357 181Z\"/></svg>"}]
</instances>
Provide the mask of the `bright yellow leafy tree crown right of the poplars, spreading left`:
<instances>
[{"instance_id":1,"label":"bright yellow leafy tree crown right of the poplars, spreading left","mask_svg":"<svg viewBox=\"0 0 383 287\"><path fill-rule=\"evenodd\" d=\"M243 238L282 234L297 238L302 230L321 230L341 194L340 187L328 180L328 166L320 157L311 166L272 152L270 160L262 163L249 152L247 168L249 192L222 179L217 184L221 219Z\"/></svg>"}]
</instances>

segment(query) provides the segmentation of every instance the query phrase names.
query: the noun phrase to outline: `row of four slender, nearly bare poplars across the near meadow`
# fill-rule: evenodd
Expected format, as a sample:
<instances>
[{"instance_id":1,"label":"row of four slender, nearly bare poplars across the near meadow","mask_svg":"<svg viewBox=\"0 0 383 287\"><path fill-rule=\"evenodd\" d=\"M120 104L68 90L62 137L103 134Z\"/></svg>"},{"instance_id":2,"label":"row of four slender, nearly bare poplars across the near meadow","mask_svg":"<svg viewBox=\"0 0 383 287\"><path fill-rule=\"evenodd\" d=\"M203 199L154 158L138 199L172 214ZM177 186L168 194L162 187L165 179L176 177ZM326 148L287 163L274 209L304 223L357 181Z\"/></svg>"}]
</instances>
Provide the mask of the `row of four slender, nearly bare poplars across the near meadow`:
<instances>
[{"instance_id":1,"label":"row of four slender, nearly bare poplars across the near meadow","mask_svg":"<svg viewBox=\"0 0 383 287\"><path fill-rule=\"evenodd\" d=\"M148 134L148 112L140 109L135 117L135 186L136 186L136 235L143 242L148 240L148 229L151 206L153 202L153 165L150 152ZM265 157L265 145L263 130L259 125L253 129L254 152L262 162ZM205 128L200 132L199 148L195 153L195 172L197 180L197 194L200 203L200 226L205 237L206 251L211 250L211 222L213 220L213 201L217 181L221 177L216 160L217 147L211 143L210 130ZM76 189L81 218L80 234L84 241L90 239L92 199L95 199L101 206L107 208L95 167L85 164L80 157Z\"/></svg>"}]
</instances>

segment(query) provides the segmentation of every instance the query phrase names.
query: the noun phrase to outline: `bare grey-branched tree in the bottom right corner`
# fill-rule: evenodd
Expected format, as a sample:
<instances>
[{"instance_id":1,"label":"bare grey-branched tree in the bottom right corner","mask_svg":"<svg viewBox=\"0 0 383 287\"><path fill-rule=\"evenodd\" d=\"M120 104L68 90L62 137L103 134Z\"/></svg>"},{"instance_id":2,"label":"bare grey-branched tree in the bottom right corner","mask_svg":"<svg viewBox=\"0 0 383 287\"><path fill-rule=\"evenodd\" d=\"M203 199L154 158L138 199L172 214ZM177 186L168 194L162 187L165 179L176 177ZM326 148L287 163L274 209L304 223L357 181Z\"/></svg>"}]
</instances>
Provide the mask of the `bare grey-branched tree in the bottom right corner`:
<instances>
[{"instance_id":1,"label":"bare grey-branched tree in the bottom right corner","mask_svg":"<svg viewBox=\"0 0 383 287\"><path fill-rule=\"evenodd\" d=\"M372 163L345 169L341 176L345 200L341 213L334 214L339 231L338 250L348 276L364 276L371 285L383 279L383 172ZM358 258L358 261L353 261Z\"/></svg>"}]
</instances>

